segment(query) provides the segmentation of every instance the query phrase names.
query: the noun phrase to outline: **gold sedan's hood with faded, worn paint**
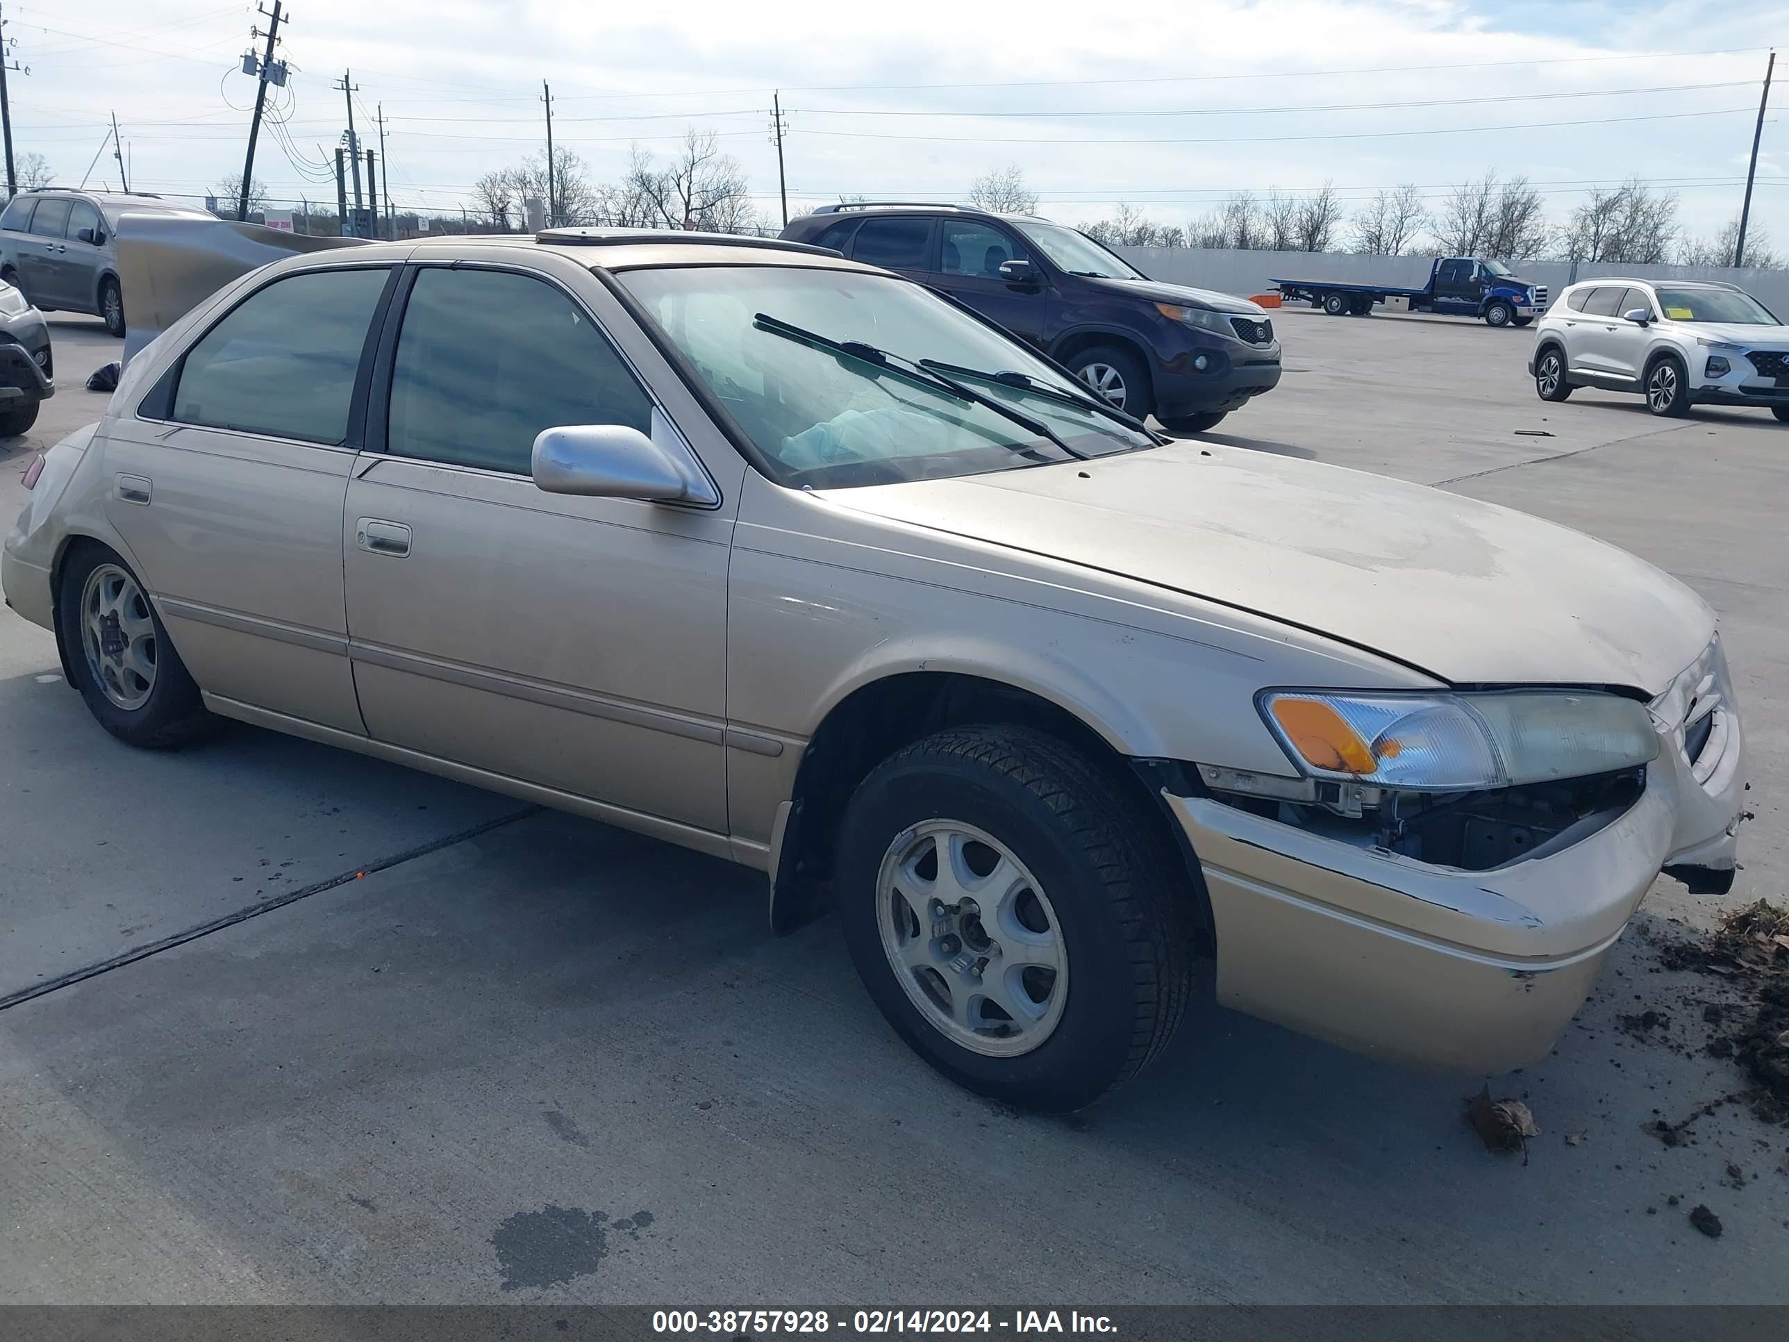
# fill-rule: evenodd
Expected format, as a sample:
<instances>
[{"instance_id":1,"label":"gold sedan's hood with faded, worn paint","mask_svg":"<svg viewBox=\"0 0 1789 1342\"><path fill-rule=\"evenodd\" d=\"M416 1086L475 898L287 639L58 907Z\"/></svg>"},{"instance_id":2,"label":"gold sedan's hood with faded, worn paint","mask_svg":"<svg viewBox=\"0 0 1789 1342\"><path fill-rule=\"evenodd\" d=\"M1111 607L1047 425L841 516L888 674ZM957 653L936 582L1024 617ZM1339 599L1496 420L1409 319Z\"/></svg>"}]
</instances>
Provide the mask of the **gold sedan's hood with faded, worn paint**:
<instances>
[{"instance_id":1,"label":"gold sedan's hood with faded, worn paint","mask_svg":"<svg viewBox=\"0 0 1789 1342\"><path fill-rule=\"evenodd\" d=\"M1714 632L1685 585L1578 531L1234 447L1184 442L827 497L1267 614L1453 684L1657 694Z\"/></svg>"}]
</instances>

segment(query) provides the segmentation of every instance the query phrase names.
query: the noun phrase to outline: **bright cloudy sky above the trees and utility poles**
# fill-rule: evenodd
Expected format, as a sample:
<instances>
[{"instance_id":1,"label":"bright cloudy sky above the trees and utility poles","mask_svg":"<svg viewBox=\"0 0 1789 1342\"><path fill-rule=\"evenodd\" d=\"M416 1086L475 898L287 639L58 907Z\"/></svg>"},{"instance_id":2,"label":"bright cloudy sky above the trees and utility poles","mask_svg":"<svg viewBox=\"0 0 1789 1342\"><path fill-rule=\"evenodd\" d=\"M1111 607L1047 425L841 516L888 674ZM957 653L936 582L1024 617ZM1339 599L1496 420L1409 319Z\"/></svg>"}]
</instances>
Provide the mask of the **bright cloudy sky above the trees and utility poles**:
<instances>
[{"instance_id":1,"label":"bright cloudy sky above the trees and utility poles","mask_svg":"<svg viewBox=\"0 0 1789 1342\"><path fill-rule=\"evenodd\" d=\"M265 0L272 5L272 0ZM116 111L131 184L204 195L240 172L254 98L252 4L13 4L16 154L57 181L89 170ZM1335 183L1358 202L1415 183L1437 200L1487 170L1526 174L1556 217L1589 183L1680 193L1691 233L1739 213L1764 47L1789 4L1576 0L1034 0L471 4L297 0L292 77L256 175L279 200L329 200L345 125L383 107L399 208L458 209L472 181L544 138L601 181L630 145L714 131L775 222L771 89L782 89L791 206L839 193L961 199L1018 165L1039 213L1081 222L1129 202L1186 222L1231 190ZM1789 75L1789 72L1784 72ZM116 186L106 152L93 183ZM1789 141L1769 113L1755 218L1789 242Z\"/></svg>"}]
</instances>

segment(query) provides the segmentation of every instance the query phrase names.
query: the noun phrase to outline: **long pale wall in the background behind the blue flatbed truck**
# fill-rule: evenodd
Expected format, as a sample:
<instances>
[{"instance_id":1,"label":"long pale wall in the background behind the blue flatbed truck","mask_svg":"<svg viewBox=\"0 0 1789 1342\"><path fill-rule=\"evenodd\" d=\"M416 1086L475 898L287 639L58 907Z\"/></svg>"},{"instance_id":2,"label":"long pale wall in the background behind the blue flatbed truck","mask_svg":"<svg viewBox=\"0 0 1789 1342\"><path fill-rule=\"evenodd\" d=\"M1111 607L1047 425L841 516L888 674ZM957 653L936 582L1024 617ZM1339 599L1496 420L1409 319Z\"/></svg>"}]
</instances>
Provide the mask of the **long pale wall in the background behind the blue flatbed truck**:
<instances>
[{"instance_id":1,"label":"long pale wall in the background behind the blue flatbed truck","mask_svg":"<svg viewBox=\"0 0 1789 1342\"><path fill-rule=\"evenodd\" d=\"M1338 279L1354 285L1420 288L1428 256L1354 256L1351 252L1231 252L1206 247L1115 247L1131 265L1168 285L1215 288L1220 293L1270 293L1276 279ZM1608 265L1603 261L1521 261L1522 279L1546 285L1553 297L1567 285L1599 276L1633 279L1725 279L1789 317L1789 270L1735 270L1712 265Z\"/></svg>"}]
</instances>

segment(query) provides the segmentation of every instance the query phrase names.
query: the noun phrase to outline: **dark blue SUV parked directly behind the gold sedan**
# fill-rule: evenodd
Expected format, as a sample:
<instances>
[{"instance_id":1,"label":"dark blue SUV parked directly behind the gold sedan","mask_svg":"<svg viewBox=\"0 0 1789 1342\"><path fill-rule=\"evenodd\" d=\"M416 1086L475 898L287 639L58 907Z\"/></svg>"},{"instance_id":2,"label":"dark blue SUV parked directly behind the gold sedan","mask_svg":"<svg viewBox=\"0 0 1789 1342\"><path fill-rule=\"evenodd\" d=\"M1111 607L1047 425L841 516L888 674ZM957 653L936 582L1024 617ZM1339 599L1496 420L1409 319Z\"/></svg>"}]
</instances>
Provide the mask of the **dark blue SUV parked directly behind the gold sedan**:
<instances>
[{"instance_id":1,"label":"dark blue SUV parked directly behind the gold sedan","mask_svg":"<svg viewBox=\"0 0 1789 1342\"><path fill-rule=\"evenodd\" d=\"M1209 429L1279 383L1279 340L1258 304L1159 285L1047 218L866 202L823 206L782 236L930 285L1170 429Z\"/></svg>"}]
</instances>

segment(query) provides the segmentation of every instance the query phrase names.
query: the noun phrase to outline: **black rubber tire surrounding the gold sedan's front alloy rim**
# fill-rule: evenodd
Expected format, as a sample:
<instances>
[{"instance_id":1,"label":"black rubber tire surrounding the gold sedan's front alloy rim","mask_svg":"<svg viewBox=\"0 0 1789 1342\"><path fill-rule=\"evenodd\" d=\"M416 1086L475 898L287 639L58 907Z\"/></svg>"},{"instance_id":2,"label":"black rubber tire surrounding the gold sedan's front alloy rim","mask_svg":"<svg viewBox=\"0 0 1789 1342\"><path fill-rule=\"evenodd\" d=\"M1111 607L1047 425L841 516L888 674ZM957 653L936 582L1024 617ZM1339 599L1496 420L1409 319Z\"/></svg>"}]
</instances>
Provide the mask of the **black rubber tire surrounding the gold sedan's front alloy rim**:
<instances>
[{"instance_id":1,"label":"black rubber tire surrounding the gold sedan's front alloy rim","mask_svg":"<svg viewBox=\"0 0 1789 1342\"><path fill-rule=\"evenodd\" d=\"M957 1084L1027 1109L1079 1109L1136 1075L1179 1025L1193 993L1195 889L1172 839L1120 787L1045 732L962 726L896 752L852 796L835 871L846 945L894 1031ZM957 1043L909 997L884 948L884 859L939 820L1005 845L1048 893L1066 995L1027 1052L996 1057ZM1004 936L998 925L993 936ZM954 991L970 991L961 982Z\"/></svg>"}]
</instances>

